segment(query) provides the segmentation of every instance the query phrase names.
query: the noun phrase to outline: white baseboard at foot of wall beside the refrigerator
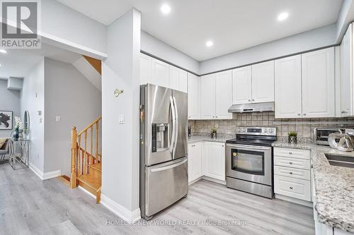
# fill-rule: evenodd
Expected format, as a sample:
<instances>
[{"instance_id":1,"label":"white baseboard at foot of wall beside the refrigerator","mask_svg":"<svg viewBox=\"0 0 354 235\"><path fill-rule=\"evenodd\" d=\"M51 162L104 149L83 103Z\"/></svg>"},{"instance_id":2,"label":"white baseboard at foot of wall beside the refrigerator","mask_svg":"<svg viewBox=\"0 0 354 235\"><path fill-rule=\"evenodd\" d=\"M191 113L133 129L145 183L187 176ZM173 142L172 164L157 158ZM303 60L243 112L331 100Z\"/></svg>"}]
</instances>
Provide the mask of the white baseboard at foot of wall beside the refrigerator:
<instances>
[{"instance_id":1,"label":"white baseboard at foot of wall beside the refrigerator","mask_svg":"<svg viewBox=\"0 0 354 235\"><path fill-rule=\"evenodd\" d=\"M140 208L137 208L133 211L128 210L104 194L101 194L101 204L126 222L134 223L141 219Z\"/></svg>"}]
</instances>

